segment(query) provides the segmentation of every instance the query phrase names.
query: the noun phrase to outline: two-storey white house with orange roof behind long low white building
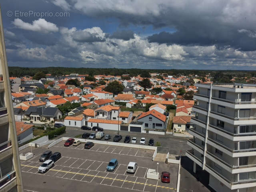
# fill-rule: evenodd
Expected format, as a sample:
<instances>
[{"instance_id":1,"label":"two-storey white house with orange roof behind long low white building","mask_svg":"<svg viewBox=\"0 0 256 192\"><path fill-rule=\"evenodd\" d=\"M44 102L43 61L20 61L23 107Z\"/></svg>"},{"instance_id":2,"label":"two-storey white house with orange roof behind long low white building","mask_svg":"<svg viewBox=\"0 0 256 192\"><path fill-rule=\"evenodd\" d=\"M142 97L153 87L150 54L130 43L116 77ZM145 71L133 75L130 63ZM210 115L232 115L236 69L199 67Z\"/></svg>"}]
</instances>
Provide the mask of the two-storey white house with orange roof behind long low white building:
<instances>
[{"instance_id":1,"label":"two-storey white house with orange roof behind long low white building","mask_svg":"<svg viewBox=\"0 0 256 192\"><path fill-rule=\"evenodd\" d=\"M94 117L97 119L118 120L118 114L120 112L120 107L106 105L94 110Z\"/></svg>"}]
</instances>

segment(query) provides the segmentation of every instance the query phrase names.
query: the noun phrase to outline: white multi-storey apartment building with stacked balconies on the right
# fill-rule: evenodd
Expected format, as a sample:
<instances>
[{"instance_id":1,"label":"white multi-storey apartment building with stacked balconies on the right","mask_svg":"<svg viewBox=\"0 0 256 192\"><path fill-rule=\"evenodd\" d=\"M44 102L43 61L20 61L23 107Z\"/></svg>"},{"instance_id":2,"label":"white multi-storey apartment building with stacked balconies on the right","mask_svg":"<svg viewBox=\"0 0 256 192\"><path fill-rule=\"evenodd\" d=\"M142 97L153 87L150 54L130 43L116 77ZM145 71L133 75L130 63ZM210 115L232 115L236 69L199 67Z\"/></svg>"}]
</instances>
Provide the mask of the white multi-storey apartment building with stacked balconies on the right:
<instances>
[{"instance_id":1,"label":"white multi-storey apartment building with stacked balconies on the right","mask_svg":"<svg viewBox=\"0 0 256 192\"><path fill-rule=\"evenodd\" d=\"M217 192L256 191L256 85L196 84L186 156Z\"/></svg>"}]
</instances>

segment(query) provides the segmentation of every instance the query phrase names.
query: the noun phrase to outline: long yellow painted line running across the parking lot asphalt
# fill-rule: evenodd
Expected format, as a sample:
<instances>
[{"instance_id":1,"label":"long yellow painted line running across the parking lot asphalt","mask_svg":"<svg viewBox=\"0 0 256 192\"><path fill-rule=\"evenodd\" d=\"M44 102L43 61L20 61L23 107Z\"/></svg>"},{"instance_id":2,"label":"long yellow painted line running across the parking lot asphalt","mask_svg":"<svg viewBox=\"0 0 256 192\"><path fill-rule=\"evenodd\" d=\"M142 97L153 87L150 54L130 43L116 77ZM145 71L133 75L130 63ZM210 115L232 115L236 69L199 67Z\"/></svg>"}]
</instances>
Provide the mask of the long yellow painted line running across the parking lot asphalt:
<instances>
[{"instance_id":1,"label":"long yellow painted line running across the parking lot asphalt","mask_svg":"<svg viewBox=\"0 0 256 192\"><path fill-rule=\"evenodd\" d=\"M38 168L36 166L31 166L31 165L24 165L24 164L20 164L21 166L24 167L31 167L31 168ZM123 179L116 179L116 178L112 178L112 177L102 177L102 176L98 176L98 175L92 175L92 174L87 174L87 173L79 173L79 172L72 172L72 171L64 171L64 170L58 170L58 169L50 169L51 171L56 171L56 172L63 172L63 173L71 173L71 174L77 174L77 175L83 175L83 176L90 176L90 177L96 177L96 178L104 178L104 179L109 179L109 180L116 180L116 181L123 181L123 182L128 182L128 183L136 183L136 184L140 184L140 185L147 185L147 186L152 186L155 187L156 185L153 184L147 184L147 183L140 183L140 182L135 182L135 181L129 181L129 180L123 180ZM165 188L165 189L172 189L172 190L176 190L176 188L172 188L172 187L165 187L165 186L156 186L159 188Z\"/></svg>"}]
</instances>

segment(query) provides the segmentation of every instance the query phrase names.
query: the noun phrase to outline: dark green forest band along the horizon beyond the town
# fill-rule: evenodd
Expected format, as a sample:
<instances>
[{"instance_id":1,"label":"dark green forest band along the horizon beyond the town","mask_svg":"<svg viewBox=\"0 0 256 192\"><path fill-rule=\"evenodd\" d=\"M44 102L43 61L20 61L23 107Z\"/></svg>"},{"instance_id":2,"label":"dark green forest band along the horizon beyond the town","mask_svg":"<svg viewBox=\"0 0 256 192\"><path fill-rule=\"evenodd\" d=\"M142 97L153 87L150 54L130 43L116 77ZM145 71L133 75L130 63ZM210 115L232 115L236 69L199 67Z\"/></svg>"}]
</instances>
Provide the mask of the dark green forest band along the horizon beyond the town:
<instances>
[{"instance_id":1,"label":"dark green forest band along the horizon beyond the town","mask_svg":"<svg viewBox=\"0 0 256 192\"><path fill-rule=\"evenodd\" d=\"M94 75L122 75L129 74L130 76L137 76L138 74L145 73L165 73L172 76L178 75L198 75L201 77L210 73L214 81L218 82L230 82L233 77L242 79L247 77L256 77L256 71L246 70L177 70L177 69L119 69L119 68L68 68L68 67L46 67L46 68L27 68L27 67L12 67L9 66L9 75L13 77L22 77L25 75L34 76L38 72L44 74L51 74L52 76L62 76L72 73L76 74L89 74Z\"/></svg>"}]
</instances>

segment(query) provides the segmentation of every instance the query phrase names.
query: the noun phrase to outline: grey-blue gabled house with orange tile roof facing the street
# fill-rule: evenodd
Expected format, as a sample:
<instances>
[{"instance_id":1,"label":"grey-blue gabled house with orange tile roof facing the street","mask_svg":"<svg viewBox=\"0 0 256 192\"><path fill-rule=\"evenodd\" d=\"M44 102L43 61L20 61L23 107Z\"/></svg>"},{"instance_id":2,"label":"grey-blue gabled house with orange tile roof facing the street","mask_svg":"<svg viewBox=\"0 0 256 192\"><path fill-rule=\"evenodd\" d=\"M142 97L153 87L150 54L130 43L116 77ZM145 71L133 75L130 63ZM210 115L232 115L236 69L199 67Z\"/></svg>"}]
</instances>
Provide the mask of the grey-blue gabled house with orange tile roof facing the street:
<instances>
[{"instance_id":1,"label":"grey-blue gabled house with orange tile roof facing the street","mask_svg":"<svg viewBox=\"0 0 256 192\"><path fill-rule=\"evenodd\" d=\"M156 110L143 112L138 117L138 122L143 122L143 129L151 130L165 130L166 129L166 116Z\"/></svg>"}]
</instances>

